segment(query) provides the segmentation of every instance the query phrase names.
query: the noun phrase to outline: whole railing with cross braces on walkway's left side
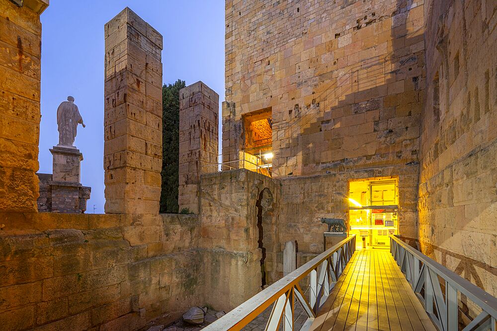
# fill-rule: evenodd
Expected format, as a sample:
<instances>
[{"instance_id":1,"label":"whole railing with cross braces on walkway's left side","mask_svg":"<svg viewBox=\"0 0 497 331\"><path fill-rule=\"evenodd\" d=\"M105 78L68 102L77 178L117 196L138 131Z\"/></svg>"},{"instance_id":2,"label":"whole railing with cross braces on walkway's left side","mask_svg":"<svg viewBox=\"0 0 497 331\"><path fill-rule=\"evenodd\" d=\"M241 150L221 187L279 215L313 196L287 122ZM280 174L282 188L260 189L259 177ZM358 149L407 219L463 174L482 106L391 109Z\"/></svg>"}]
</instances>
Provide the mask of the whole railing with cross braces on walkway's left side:
<instances>
[{"instance_id":1,"label":"whole railing with cross braces on walkway's left side","mask_svg":"<svg viewBox=\"0 0 497 331\"><path fill-rule=\"evenodd\" d=\"M297 302L308 316L301 330L308 329L354 251L355 235L352 235L257 293L203 330L241 330L271 304L273 308L265 330L278 330L282 320L283 330L293 330ZM299 284L307 276L309 299Z\"/></svg>"}]
</instances>

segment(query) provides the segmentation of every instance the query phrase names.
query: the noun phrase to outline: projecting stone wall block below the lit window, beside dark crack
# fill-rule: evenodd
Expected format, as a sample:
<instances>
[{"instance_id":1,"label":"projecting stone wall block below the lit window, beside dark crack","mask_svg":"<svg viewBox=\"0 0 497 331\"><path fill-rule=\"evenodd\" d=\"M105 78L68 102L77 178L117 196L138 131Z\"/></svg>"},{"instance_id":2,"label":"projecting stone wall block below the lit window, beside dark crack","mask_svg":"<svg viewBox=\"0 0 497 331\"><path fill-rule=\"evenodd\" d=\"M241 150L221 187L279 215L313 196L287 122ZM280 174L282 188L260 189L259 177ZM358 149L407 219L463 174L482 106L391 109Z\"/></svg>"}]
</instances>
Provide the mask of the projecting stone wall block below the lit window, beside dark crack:
<instances>
[{"instance_id":1,"label":"projecting stone wall block below the lit window, beside dark crack","mask_svg":"<svg viewBox=\"0 0 497 331\"><path fill-rule=\"evenodd\" d=\"M204 174L200 192L199 249L206 274L206 303L231 310L261 289L257 230L257 199L268 188L277 208L279 181L241 169ZM278 222L275 212L273 224ZM265 243L277 242L274 232L264 232ZM266 266L273 270L274 254L266 251ZM214 276L215 275L215 276ZM274 279L275 280L275 279Z\"/></svg>"}]
</instances>

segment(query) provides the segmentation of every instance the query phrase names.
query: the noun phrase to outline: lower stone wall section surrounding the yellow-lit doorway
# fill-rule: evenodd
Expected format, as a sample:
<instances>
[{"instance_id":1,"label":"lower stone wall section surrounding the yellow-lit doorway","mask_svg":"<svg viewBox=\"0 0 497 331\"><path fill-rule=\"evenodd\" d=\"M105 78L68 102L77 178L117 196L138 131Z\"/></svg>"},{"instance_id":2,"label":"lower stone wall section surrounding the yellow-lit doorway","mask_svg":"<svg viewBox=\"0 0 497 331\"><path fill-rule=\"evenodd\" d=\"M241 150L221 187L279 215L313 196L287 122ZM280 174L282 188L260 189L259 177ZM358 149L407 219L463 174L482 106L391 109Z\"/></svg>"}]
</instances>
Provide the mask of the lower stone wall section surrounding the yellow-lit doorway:
<instances>
[{"instance_id":1,"label":"lower stone wall section surrounding the yellow-lit doorway","mask_svg":"<svg viewBox=\"0 0 497 331\"><path fill-rule=\"evenodd\" d=\"M417 238L416 165L385 166L381 169L354 170L347 163L330 174L282 178L280 199L280 244L278 270L283 275L284 244L297 240L300 253L322 253L323 232L328 229L321 217L349 219L349 181L365 178L397 178L399 181L399 233ZM331 243L331 239L328 239Z\"/></svg>"}]
</instances>

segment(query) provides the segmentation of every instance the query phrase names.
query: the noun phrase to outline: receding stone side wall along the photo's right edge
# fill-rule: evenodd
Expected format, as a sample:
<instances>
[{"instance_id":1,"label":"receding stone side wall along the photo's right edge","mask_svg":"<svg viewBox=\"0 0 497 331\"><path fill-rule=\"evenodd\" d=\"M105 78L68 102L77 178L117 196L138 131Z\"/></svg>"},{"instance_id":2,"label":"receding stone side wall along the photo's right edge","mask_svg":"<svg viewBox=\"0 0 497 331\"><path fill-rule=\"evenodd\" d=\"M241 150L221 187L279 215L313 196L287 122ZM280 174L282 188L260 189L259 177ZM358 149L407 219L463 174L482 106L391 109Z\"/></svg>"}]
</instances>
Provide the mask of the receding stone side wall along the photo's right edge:
<instances>
[{"instance_id":1,"label":"receding stone side wall along the photo's right edge","mask_svg":"<svg viewBox=\"0 0 497 331\"><path fill-rule=\"evenodd\" d=\"M497 295L497 2L428 1L421 250Z\"/></svg>"}]
</instances>

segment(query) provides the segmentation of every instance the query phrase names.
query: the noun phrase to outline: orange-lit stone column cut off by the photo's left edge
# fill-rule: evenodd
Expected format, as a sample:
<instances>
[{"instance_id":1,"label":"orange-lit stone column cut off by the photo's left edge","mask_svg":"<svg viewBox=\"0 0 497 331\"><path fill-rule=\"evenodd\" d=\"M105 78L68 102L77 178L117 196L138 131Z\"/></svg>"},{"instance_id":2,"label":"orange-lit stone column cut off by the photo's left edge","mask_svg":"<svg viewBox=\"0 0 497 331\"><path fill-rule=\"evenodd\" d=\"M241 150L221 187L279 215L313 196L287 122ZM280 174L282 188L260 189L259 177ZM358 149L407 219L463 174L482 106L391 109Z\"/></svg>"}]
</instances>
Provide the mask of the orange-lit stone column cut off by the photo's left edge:
<instances>
[{"instance_id":1,"label":"orange-lit stone column cut off by the photo's left edge","mask_svg":"<svg viewBox=\"0 0 497 331\"><path fill-rule=\"evenodd\" d=\"M47 6L0 0L0 212L38 210L40 14Z\"/></svg>"}]
</instances>

